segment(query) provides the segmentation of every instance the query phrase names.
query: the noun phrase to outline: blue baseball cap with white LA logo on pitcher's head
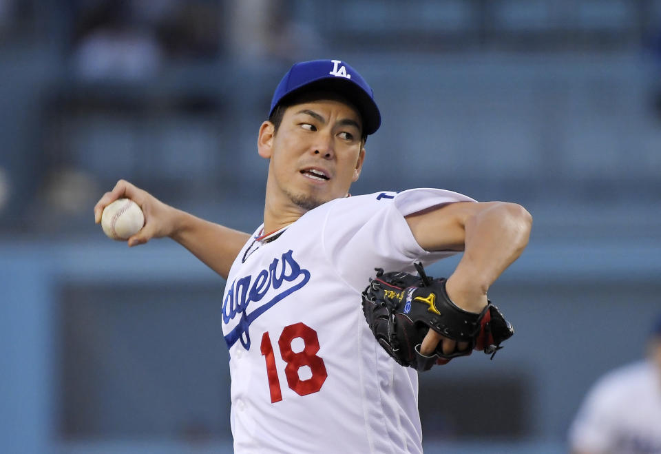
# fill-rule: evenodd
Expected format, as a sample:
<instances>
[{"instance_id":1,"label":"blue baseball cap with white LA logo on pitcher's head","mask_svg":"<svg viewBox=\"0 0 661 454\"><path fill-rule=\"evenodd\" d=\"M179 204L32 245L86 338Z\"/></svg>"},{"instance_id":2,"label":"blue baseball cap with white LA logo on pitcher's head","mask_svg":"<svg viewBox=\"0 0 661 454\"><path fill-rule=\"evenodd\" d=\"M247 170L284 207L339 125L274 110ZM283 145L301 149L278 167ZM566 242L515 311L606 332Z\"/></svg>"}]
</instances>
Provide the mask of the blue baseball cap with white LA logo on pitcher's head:
<instances>
[{"instance_id":1,"label":"blue baseball cap with white LA logo on pitcher's head","mask_svg":"<svg viewBox=\"0 0 661 454\"><path fill-rule=\"evenodd\" d=\"M342 94L358 109L365 134L374 134L381 125L381 113L370 85L344 61L313 60L296 63L277 84L269 116L275 107L295 94L323 90Z\"/></svg>"}]
</instances>

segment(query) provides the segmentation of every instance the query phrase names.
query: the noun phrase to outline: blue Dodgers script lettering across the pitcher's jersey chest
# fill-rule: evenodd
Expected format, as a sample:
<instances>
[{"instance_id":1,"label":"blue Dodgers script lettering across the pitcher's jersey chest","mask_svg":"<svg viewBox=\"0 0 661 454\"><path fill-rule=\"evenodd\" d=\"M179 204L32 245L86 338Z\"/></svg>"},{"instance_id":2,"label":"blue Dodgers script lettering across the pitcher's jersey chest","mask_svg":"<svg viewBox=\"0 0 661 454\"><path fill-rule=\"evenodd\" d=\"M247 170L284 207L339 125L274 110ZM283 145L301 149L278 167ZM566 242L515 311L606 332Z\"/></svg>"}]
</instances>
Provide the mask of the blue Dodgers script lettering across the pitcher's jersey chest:
<instances>
[{"instance_id":1,"label":"blue Dodgers script lettering across the pitcher's jersey chest","mask_svg":"<svg viewBox=\"0 0 661 454\"><path fill-rule=\"evenodd\" d=\"M292 254L293 251L290 249L282 254L280 260L274 258L269 268L262 269L254 281L252 280L253 276L244 276L232 282L229 291L227 291L227 296L222 302L222 322L228 324L230 320L233 320L239 314L240 319L234 329L225 336L227 348L231 348L237 340L240 340L243 347L249 350L250 334L248 329L250 324L262 313L271 309L276 302L291 295L291 293L301 289L308 283L310 271L301 268L292 257ZM280 268L278 265L280 265ZM302 279L299 279L301 276ZM298 282L294 285L284 284L285 282L295 281ZM283 287L282 291L278 291L275 295L273 295L273 292L269 292L271 289L280 290L280 287ZM261 302L266 295L273 296L268 302L253 309L251 313L247 313L246 309L251 303L253 303L252 306L255 306L255 303Z\"/></svg>"}]
</instances>

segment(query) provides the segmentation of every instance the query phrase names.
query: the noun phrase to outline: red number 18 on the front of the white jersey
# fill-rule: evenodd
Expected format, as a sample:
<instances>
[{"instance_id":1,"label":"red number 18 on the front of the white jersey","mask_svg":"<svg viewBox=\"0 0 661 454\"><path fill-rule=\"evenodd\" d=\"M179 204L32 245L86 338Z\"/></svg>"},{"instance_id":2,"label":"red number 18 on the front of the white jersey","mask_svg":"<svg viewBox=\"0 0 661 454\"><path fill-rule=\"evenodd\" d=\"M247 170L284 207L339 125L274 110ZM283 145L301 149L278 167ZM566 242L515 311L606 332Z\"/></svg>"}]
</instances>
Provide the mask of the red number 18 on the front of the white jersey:
<instances>
[{"instance_id":1,"label":"red number 18 on the front of the white jersey","mask_svg":"<svg viewBox=\"0 0 661 454\"><path fill-rule=\"evenodd\" d=\"M295 338L302 338L304 349L294 352L291 349L291 342ZM317 356L319 351L319 338L317 331L303 323L290 324L282 330L280 338L277 340L280 347L282 360L287 363L284 368L284 375L287 378L287 384L298 395L308 395L316 393L322 389L322 385L328 377L324 360ZM280 380L277 378L275 369L275 355L271 346L269 332L266 331L262 336L262 355L266 358L266 376L269 378L269 391L271 391L271 402L280 402L282 393L280 391ZM308 366L312 371L311 378L301 380L298 371L301 367Z\"/></svg>"}]
</instances>

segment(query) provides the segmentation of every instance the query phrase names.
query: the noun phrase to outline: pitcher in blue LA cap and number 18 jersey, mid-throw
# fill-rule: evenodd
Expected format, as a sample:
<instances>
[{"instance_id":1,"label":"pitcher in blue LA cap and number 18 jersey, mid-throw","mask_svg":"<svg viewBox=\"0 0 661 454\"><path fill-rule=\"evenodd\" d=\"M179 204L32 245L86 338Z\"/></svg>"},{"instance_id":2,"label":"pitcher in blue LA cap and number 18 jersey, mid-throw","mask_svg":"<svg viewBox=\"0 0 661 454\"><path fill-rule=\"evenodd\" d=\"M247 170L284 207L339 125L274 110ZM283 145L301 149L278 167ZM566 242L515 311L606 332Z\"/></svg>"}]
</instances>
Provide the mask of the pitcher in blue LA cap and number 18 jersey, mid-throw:
<instances>
[{"instance_id":1,"label":"pitcher in blue LA cap and number 18 jersey, mid-throw","mask_svg":"<svg viewBox=\"0 0 661 454\"><path fill-rule=\"evenodd\" d=\"M98 223L105 205L132 198L145 227L130 246L167 236L227 278L221 318L236 453L421 453L417 372L379 346L361 291L375 267L413 271L463 251L447 295L463 313L480 313L487 289L527 245L532 220L516 204L443 189L349 196L380 118L346 62L297 63L259 130L269 171L264 220L252 234L124 180L94 207ZM429 330L419 351L469 347Z\"/></svg>"}]
</instances>

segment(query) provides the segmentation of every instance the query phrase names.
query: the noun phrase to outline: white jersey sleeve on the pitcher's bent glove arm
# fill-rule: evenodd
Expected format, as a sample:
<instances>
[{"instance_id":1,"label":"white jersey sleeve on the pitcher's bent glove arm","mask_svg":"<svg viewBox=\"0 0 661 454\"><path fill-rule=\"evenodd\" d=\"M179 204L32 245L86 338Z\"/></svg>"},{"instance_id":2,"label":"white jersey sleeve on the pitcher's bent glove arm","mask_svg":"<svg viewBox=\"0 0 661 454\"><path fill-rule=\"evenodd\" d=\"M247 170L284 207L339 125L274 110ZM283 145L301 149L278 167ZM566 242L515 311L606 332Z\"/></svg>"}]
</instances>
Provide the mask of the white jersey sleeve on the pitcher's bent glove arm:
<instances>
[{"instance_id":1,"label":"white jersey sleeve on the pitcher's bent glove arm","mask_svg":"<svg viewBox=\"0 0 661 454\"><path fill-rule=\"evenodd\" d=\"M362 291L376 267L411 272L414 262L428 265L457 253L422 249L404 216L437 205L474 201L443 189L380 192L338 200L324 221L324 252L337 274Z\"/></svg>"}]
</instances>

